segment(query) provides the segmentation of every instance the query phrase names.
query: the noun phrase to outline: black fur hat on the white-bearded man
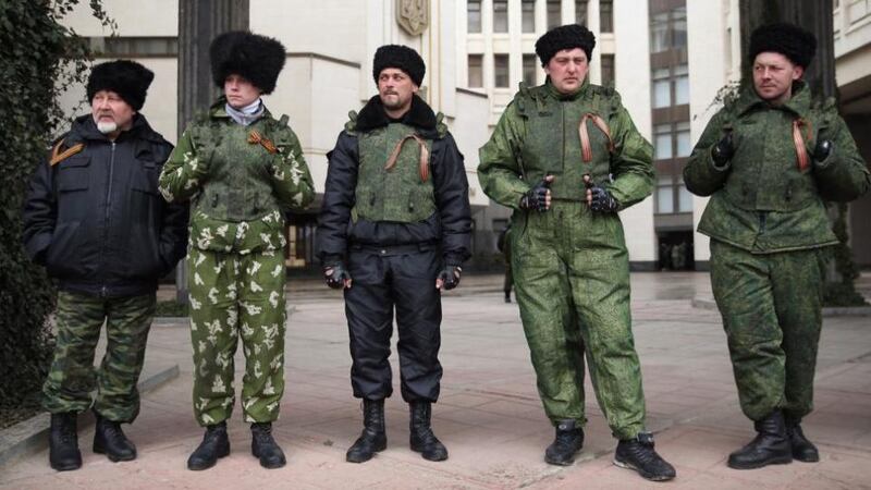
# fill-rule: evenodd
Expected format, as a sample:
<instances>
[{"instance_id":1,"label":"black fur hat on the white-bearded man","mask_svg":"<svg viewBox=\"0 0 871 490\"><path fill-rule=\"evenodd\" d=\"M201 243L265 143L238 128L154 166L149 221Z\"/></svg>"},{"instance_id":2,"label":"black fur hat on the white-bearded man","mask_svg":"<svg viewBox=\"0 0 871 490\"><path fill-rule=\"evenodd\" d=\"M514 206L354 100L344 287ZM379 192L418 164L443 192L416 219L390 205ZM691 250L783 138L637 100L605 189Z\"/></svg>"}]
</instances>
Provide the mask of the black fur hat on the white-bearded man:
<instances>
[{"instance_id":1,"label":"black fur hat on the white-bearded man","mask_svg":"<svg viewBox=\"0 0 871 490\"><path fill-rule=\"evenodd\" d=\"M121 96L134 111L138 111L145 103L145 96L152 79L155 79L155 73L135 61L107 61L94 65L90 70L85 90L88 95L88 102L94 100L94 95L98 91L112 90Z\"/></svg>"}]
</instances>

